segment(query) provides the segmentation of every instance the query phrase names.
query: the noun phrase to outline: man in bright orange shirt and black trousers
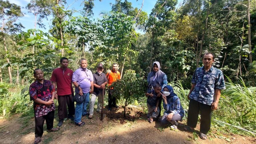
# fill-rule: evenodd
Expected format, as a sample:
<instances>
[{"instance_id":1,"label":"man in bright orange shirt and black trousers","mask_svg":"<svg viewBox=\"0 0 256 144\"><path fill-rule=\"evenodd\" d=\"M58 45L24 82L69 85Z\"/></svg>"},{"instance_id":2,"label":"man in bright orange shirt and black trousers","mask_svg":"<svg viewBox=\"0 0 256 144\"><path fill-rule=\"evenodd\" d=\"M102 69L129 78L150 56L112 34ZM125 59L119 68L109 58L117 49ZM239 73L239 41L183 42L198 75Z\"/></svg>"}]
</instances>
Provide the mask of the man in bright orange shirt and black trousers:
<instances>
[{"instance_id":1,"label":"man in bright orange shirt and black trousers","mask_svg":"<svg viewBox=\"0 0 256 144\"><path fill-rule=\"evenodd\" d=\"M107 73L107 79L108 79L108 110L111 110L112 107L118 108L116 105L116 98L112 98L112 91L113 87L110 88L112 82L117 81L121 78L119 71L117 71L117 63L113 63L112 70Z\"/></svg>"}]
</instances>

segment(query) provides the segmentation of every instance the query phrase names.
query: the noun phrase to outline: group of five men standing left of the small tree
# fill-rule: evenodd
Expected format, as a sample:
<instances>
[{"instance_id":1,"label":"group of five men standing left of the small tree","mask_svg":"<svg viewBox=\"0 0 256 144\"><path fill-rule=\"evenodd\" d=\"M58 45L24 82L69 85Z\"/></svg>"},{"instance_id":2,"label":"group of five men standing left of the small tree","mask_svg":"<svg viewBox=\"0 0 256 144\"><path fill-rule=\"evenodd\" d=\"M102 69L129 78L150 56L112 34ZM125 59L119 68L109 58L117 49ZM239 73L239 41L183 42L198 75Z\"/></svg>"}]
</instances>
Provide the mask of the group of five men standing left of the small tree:
<instances>
[{"instance_id":1,"label":"group of five men standing left of the small tree","mask_svg":"<svg viewBox=\"0 0 256 144\"><path fill-rule=\"evenodd\" d=\"M64 120L69 118L76 125L83 126L82 116L93 117L94 104L98 97L97 112L101 112L102 97L104 96L105 86L110 86L112 82L120 79L120 73L117 71L117 63L113 63L112 70L107 74L103 73L103 64L98 64L97 71L92 73L87 69L86 59L80 60L80 67L74 72L68 68L69 61L66 57L60 59L60 68L54 69L50 81L44 79L44 73L41 69L34 70L35 82L29 87L30 100L34 101L33 108L35 114L35 140L34 143L40 143L43 135L43 124L46 121L48 132L59 130ZM73 86L78 87L75 91L78 95L84 97L84 101L76 102L74 106ZM108 90L108 110L116 105L116 98L112 97L112 90ZM90 95L91 94L91 101ZM53 127L55 105L54 99L58 100L58 127ZM89 105L89 112L87 106ZM67 109L68 107L68 109Z\"/></svg>"}]
</instances>

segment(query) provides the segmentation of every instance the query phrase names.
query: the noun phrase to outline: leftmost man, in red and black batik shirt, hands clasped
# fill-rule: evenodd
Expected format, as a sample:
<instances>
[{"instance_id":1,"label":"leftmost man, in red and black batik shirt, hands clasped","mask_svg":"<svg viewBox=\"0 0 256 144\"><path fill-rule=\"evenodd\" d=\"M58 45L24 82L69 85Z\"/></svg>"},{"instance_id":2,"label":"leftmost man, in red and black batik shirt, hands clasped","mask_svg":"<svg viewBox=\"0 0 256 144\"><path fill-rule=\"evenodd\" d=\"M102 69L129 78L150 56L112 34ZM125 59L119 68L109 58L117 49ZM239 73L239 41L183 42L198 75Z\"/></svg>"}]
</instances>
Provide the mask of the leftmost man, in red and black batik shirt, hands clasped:
<instances>
[{"instance_id":1,"label":"leftmost man, in red and black batik shirt, hands clasped","mask_svg":"<svg viewBox=\"0 0 256 144\"><path fill-rule=\"evenodd\" d=\"M44 133L43 125L46 120L48 131L57 131L58 128L53 128L54 119L54 96L55 88L52 86L51 81L44 80L44 73L41 69L34 70L34 77L36 81L29 87L30 100L33 100L33 108L35 114L35 141L40 143L41 137Z\"/></svg>"}]
</instances>

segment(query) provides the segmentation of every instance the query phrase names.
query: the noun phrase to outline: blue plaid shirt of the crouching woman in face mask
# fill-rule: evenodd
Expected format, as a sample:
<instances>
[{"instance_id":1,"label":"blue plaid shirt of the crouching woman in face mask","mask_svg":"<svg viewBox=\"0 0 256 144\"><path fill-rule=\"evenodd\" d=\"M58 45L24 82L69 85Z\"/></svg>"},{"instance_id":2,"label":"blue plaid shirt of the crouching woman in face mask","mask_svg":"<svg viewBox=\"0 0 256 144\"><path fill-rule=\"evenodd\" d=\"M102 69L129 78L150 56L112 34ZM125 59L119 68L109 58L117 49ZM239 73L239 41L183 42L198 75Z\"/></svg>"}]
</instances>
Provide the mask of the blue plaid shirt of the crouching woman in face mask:
<instances>
[{"instance_id":1,"label":"blue plaid shirt of the crouching woman in face mask","mask_svg":"<svg viewBox=\"0 0 256 144\"><path fill-rule=\"evenodd\" d=\"M172 96L170 98L167 98L167 104L165 104L163 100L163 107L165 109L164 114L169 114L169 113L173 113L173 115L179 114L181 117L184 117L185 115L178 96Z\"/></svg>"}]
</instances>

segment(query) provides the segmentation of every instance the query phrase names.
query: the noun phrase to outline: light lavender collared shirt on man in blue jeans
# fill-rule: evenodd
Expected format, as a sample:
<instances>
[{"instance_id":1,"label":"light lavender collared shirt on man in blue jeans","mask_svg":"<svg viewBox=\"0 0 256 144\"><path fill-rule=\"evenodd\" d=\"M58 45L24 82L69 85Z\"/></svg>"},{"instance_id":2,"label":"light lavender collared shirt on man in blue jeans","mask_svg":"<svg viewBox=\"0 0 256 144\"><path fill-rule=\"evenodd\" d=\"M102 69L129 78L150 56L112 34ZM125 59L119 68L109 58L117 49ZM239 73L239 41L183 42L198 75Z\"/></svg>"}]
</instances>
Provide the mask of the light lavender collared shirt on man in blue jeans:
<instances>
[{"instance_id":1,"label":"light lavender collared shirt on man in blue jeans","mask_svg":"<svg viewBox=\"0 0 256 144\"><path fill-rule=\"evenodd\" d=\"M93 81L93 75L87 68L83 70L81 67L73 73L72 82L77 82L83 90L83 93L88 93Z\"/></svg>"}]
</instances>

